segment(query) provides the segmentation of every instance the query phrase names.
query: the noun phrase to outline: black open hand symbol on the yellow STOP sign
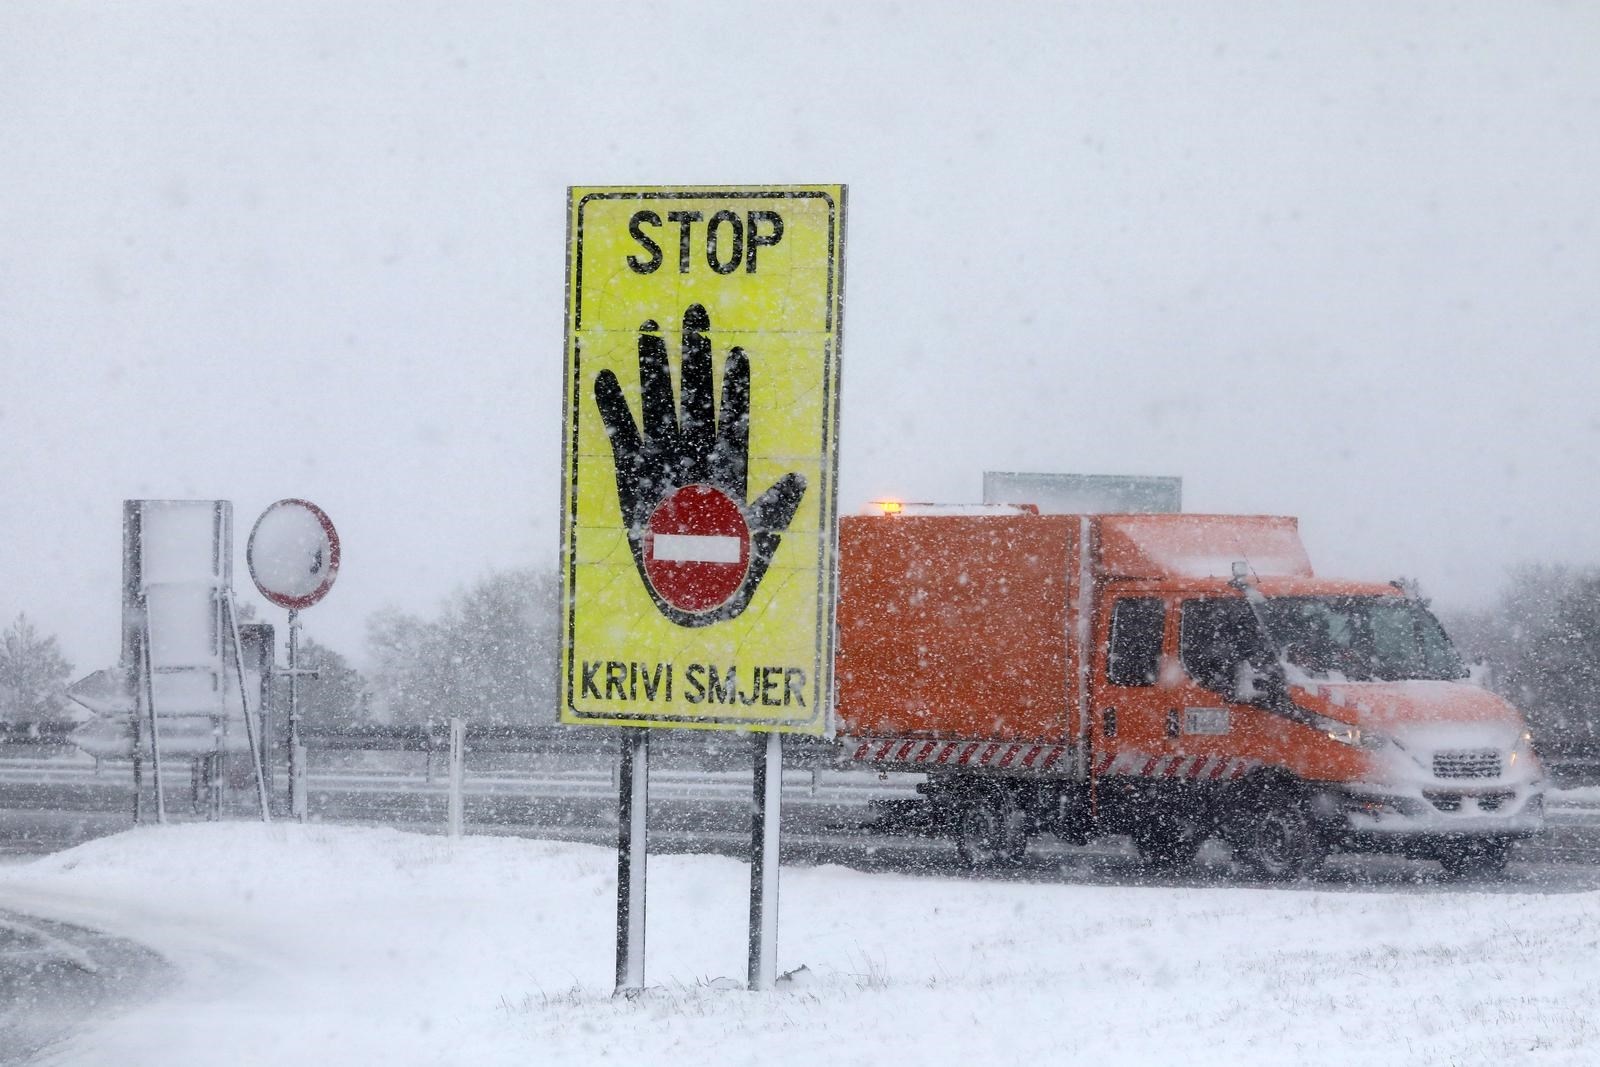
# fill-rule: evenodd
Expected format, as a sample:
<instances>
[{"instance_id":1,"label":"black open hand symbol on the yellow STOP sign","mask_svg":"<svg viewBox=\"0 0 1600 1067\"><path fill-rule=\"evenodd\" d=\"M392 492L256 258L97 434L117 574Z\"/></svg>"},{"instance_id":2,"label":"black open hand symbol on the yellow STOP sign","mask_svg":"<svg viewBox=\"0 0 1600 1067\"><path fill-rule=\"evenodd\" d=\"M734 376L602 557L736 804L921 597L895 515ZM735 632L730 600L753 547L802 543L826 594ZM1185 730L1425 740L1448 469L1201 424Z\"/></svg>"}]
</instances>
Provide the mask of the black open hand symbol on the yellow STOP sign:
<instances>
[{"instance_id":1,"label":"black open hand symbol on the yellow STOP sign","mask_svg":"<svg viewBox=\"0 0 1600 1067\"><path fill-rule=\"evenodd\" d=\"M616 498L627 525L627 544L634 550L638 576L650 590L651 600L666 617L678 625L707 625L731 619L744 611L766 574L773 553L782 541L782 531L800 507L805 496L805 477L786 474L746 504L749 491L750 458L750 362L744 349L728 352L722 379L722 421L712 405L712 357L710 315L699 304L683 312L683 370L682 413L672 402L672 371L667 363L667 346L654 322L646 322L638 333L638 386L643 406L643 429L634 422L634 413L622 397L622 386L611 371L595 376L595 405L611 440L616 458ZM712 499L726 498L726 504ZM693 498L693 499L691 499ZM661 563L661 553L646 549L651 520L658 512L680 514L686 509L701 512L736 510L749 531L749 547L741 552L742 577L731 560L702 568L722 571L726 589L710 582L704 595L678 595L658 589L670 563ZM670 525L670 523L669 523ZM722 541L730 541L723 537ZM733 568L733 569L730 569ZM656 581L651 574L656 574ZM733 582L738 582L736 587Z\"/></svg>"}]
</instances>

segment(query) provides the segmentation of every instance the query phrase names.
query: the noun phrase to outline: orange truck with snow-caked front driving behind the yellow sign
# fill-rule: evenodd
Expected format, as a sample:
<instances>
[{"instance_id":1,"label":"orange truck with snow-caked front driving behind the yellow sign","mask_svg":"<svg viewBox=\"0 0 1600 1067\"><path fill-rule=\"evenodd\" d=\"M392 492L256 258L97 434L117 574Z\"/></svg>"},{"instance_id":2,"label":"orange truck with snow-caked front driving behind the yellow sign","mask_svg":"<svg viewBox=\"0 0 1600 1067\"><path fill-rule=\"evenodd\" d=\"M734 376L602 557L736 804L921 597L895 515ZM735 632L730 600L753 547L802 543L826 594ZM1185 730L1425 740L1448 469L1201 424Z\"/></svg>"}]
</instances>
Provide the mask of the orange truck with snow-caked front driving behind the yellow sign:
<instances>
[{"instance_id":1,"label":"orange truck with snow-caked front driving behind the yellow sign","mask_svg":"<svg viewBox=\"0 0 1600 1067\"><path fill-rule=\"evenodd\" d=\"M1272 880L1331 851L1491 873L1542 829L1523 717L1402 582L1315 576L1294 518L894 512L840 520L838 752L926 774L893 822L971 865L1126 833Z\"/></svg>"}]
</instances>

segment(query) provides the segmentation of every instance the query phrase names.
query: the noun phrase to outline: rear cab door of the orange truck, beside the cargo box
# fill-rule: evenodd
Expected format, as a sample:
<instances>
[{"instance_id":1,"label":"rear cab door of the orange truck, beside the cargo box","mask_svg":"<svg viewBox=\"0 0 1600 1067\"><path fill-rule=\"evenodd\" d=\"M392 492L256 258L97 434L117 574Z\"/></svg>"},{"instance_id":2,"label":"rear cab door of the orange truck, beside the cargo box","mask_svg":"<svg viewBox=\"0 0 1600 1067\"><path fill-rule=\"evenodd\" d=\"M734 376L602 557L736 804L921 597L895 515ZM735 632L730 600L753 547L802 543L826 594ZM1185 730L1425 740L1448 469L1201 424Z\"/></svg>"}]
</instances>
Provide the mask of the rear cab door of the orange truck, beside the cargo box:
<instances>
[{"instance_id":1,"label":"rear cab door of the orange truck, beside the cargo box","mask_svg":"<svg viewBox=\"0 0 1600 1067\"><path fill-rule=\"evenodd\" d=\"M1101 774L1142 774L1166 744L1170 699L1162 688L1166 600L1150 593L1107 592L1099 617L1107 632L1094 641L1093 758Z\"/></svg>"}]
</instances>

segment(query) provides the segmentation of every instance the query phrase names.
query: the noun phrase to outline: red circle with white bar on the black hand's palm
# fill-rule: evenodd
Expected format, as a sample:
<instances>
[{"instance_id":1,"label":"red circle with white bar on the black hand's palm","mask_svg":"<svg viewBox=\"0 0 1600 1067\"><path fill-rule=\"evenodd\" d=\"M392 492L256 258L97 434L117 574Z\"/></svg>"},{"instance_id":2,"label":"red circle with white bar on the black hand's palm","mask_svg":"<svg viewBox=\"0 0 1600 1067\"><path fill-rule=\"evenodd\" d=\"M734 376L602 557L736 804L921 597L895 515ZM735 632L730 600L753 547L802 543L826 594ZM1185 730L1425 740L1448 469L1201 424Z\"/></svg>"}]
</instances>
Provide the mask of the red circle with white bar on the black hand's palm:
<instances>
[{"instance_id":1,"label":"red circle with white bar on the black hand's palm","mask_svg":"<svg viewBox=\"0 0 1600 1067\"><path fill-rule=\"evenodd\" d=\"M750 526L731 496L710 485L674 490L645 526L645 574L678 611L728 603L750 569Z\"/></svg>"}]
</instances>

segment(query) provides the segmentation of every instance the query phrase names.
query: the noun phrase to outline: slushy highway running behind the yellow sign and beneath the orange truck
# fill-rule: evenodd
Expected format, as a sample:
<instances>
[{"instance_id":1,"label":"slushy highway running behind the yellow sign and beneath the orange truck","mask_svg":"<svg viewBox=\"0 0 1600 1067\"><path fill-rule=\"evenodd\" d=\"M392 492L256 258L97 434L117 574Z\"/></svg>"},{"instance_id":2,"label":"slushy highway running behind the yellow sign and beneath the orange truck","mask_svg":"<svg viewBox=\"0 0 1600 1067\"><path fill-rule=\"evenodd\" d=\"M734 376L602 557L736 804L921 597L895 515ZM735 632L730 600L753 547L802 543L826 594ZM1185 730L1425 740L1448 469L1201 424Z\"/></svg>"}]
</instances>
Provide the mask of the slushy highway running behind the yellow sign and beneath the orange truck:
<instances>
[{"instance_id":1,"label":"slushy highway running behind the yellow sign and beneath the orange truck","mask_svg":"<svg viewBox=\"0 0 1600 1067\"><path fill-rule=\"evenodd\" d=\"M421 763L410 769L322 769L310 779L314 819L440 832L446 787ZM944 840L872 835L861 830L874 800L914 797L915 776L880 781L864 771L784 773L784 857L838 862L858 869L914 869L960 875ZM742 856L749 843L747 773L654 768L650 784L651 848L674 853ZM184 782L187 785L187 782ZM1518 846L1512 880L1552 891L1600 886L1600 790L1557 793L1550 827ZM469 773L466 819L472 833L610 845L616 833L616 787L605 765L549 765L533 771ZM237 798L238 814L248 795ZM96 774L86 761L0 761L0 861L56 851L128 829L131 790L126 768ZM187 789L170 787L168 806L186 813ZM1050 840L1030 848L1029 870L1077 872L1091 880L1142 880L1146 873L1122 841L1088 848ZM1219 880L1224 864L1202 878ZM1058 875L1051 875L1058 877ZM1437 881L1437 865L1387 857L1338 857L1326 878L1381 885Z\"/></svg>"}]
</instances>

